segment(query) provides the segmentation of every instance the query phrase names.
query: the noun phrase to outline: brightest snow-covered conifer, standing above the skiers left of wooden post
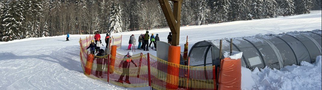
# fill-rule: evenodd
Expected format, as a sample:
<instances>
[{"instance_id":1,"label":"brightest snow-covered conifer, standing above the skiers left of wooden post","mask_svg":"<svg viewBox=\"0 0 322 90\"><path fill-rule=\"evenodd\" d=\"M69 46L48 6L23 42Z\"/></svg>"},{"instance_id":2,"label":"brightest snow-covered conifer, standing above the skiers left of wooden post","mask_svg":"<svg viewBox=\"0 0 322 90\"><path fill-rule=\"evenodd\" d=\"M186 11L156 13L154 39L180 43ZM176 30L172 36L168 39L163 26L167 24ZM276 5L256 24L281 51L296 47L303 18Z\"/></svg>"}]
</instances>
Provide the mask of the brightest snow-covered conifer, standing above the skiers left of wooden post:
<instances>
[{"instance_id":1,"label":"brightest snow-covered conifer, standing above the skiers left of wooden post","mask_svg":"<svg viewBox=\"0 0 322 90\"><path fill-rule=\"evenodd\" d=\"M109 33L112 32L122 32L123 31L123 22L121 16L121 8L119 4L112 4L111 11L109 12L109 21L108 21L108 28Z\"/></svg>"}]
</instances>

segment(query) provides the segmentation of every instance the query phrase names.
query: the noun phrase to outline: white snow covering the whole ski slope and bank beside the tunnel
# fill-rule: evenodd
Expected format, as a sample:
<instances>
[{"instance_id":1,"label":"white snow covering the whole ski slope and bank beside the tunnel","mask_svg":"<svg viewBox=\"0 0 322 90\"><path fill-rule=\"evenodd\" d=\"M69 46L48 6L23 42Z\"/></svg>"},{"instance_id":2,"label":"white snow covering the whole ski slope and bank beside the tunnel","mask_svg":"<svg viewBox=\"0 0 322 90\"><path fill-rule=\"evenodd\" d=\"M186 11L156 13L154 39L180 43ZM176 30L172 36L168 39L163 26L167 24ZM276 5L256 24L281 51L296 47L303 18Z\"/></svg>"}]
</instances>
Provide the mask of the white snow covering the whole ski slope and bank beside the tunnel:
<instances>
[{"instance_id":1,"label":"white snow covering the whole ski slope and bank beside the tunnel","mask_svg":"<svg viewBox=\"0 0 322 90\"><path fill-rule=\"evenodd\" d=\"M194 43L203 40L321 30L321 15L321 11L312 11L309 14L269 19L183 26L180 27L179 44L183 52L187 36L190 50ZM122 48L117 49L117 53L126 55L128 50L125 49L128 47L130 35L134 34L138 40L138 36L145 32L112 33L111 35L116 37L122 35ZM170 29L153 29L149 32L159 34L161 41L167 41ZM101 33L101 37L105 37L105 34ZM70 41L64 41L66 35L62 35L0 42L0 90L150 89L149 86L136 88L117 86L84 75L79 56L79 40L86 36L90 35L70 35ZM156 56L155 50L136 50L134 54L141 52ZM313 64L302 62L300 66L286 66L280 70L267 67L251 71L242 67L242 90L321 90L321 56L317 57L317 62Z\"/></svg>"}]
</instances>

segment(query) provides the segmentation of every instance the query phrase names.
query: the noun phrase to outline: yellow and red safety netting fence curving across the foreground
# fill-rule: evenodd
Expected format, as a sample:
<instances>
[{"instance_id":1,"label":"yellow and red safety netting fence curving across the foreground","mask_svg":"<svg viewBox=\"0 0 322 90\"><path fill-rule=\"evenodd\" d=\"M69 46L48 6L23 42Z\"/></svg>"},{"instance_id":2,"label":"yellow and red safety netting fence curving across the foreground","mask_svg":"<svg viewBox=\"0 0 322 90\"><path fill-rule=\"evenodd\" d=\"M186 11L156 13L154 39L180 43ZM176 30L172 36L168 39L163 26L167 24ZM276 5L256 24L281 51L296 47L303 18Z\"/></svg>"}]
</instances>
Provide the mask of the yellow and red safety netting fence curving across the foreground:
<instances>
[{"instance_id":1,"label":"yellow and red safety netting fence curving across the foreground","mask_svg":"<svg viewBox=\"0 0 322 90\"><path fill-rule=\"evenodd\" d=\"M167 62L149 53L135 54L131 58L126 58L125 55L118 53L95 56L89 54L86 50L89 45L87 40L88 38L80 39L80 59L84 74L90 78L100 79L119 86L151 86L158 90L216 89L214 66L179 65ZM131 59L133 62L129 60L129 62L122 63L126 59Z\"/></svg>"}]
</instances>

